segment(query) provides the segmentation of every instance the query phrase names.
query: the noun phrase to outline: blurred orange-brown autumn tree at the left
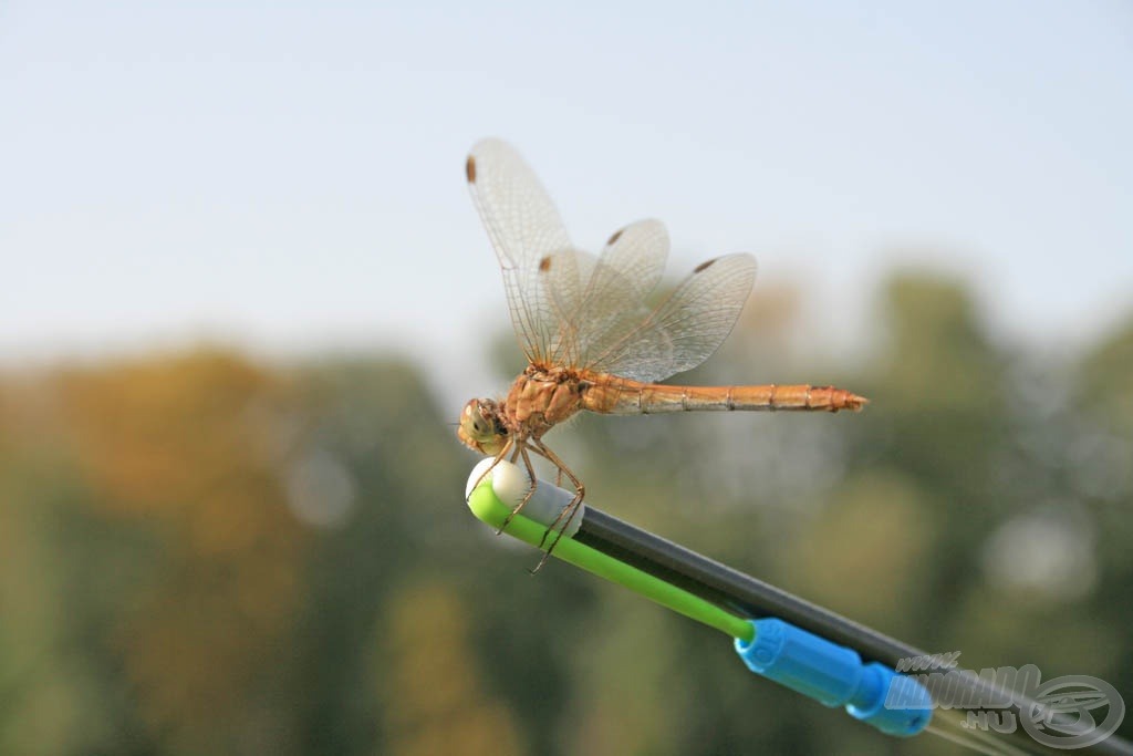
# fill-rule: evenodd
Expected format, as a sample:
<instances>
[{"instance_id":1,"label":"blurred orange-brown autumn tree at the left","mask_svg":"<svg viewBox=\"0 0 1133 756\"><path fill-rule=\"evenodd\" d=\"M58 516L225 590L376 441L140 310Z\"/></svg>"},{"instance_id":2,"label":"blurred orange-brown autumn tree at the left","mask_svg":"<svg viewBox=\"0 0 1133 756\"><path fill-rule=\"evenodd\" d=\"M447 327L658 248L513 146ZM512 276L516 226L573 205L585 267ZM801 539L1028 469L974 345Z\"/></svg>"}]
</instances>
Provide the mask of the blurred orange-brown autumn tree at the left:
<instances>
[{"instance_id":1,"label":"blurred orange-brown autumn tree at the left","mask_svg":"<svg viewBox=\"0 0 1133 756\"><path fill-rule=\"evenodd\" d=\"M93 513L152 538L102 628L152 737L281 747L271 660L291 643L305 542L278 475L286 388L198 351L69 372L59 393Z\"/></svg>"}]
</instances>

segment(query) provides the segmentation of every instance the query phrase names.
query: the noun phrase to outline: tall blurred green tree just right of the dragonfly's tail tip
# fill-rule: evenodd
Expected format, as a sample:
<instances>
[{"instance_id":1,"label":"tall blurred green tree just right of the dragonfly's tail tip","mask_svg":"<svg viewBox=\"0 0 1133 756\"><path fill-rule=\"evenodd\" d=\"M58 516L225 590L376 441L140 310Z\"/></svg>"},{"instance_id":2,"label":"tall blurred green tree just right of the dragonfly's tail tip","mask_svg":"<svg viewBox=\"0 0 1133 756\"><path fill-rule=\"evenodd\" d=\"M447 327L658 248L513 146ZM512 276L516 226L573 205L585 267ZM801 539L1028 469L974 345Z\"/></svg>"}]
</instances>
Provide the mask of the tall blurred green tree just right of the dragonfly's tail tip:
<instances>
[{"instance_id":1,"label":"tall blurred green tree just right of the dragonfly's tail tip","mask_svg":"<svg viewBox=\"0 0 1133 756\"><path fill-rule=\"evenodd\" d=\"M970 296L945 279L893 277L884 289L881 333L880 351L862 382L874 401L845 430L845 491L860 485L860 476L900 484L861 502L892 509L892 517L872 525L862 520L847 532L845 547L871 560L904 554L883 570L905 581L903 587L878 586L881 596L904 601L878 606L889 615L885 621L870 613L859 618L895 634L912 631L910 642L936 648L947 645L948 623L915 628L913 618L947 617L982 580L980 544L1012 504L998 486L997 468L1011 426L1008 359L987 340ZM834 507L841 499L835 496ZM867 535L896 524L884 541ZM895 615L902 612L904 620Z\"/></svg>"}]
</instances>

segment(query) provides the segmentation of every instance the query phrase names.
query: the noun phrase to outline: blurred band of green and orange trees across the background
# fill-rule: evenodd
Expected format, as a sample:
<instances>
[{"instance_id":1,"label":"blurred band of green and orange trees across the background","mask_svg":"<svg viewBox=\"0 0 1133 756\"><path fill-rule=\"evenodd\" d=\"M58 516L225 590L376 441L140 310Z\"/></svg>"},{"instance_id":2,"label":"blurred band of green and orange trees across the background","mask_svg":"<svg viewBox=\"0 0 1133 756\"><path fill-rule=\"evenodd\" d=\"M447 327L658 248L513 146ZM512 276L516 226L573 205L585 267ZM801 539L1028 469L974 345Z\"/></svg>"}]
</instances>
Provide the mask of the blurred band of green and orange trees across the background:
<instances>
[{"instance_id":1,"label":"blurred band of green and orange trees across the background","mask_svg":"<svg viewBox=\"0 0 1133 756\"><path fill-rule=\"evenodd\" d=\"M682 380L868 409L582 418L550 440L594 502L963 666L1133 694L1133 322L1021 354L960 284L897 275L840 366L787 348L790 292L759 301ZM424 387L223 350L3 376L0 753L953 751L565 564L529 577Z\"/></svg>"}]
</instances>

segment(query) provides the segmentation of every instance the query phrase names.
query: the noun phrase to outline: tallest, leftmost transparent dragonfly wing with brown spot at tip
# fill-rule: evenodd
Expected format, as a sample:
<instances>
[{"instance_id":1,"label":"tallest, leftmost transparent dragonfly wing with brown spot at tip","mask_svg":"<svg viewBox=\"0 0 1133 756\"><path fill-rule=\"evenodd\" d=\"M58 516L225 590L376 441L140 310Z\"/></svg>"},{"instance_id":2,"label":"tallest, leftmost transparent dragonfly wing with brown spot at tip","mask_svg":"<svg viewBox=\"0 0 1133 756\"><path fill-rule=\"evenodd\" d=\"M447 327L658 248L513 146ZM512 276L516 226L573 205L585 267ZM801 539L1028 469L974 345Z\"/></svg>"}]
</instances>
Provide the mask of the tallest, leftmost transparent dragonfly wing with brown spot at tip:
<instances>
[{"instance_id":1,"label":"tallest, leftmost transparent dragonfly wing with brown spot at tip","mask_svg":"<svg viewBox=\"0 0 1133 756\"><path fill-rule=\"evenodd\" d=\"M590 263L571 249L551 197L509 144L478 142L467 173L503 270L519 346L529 362L547 363L564 349L564 334L571 332L564 318L580 303L580 277L589 274Z\"/></svg>"}]
</instances>

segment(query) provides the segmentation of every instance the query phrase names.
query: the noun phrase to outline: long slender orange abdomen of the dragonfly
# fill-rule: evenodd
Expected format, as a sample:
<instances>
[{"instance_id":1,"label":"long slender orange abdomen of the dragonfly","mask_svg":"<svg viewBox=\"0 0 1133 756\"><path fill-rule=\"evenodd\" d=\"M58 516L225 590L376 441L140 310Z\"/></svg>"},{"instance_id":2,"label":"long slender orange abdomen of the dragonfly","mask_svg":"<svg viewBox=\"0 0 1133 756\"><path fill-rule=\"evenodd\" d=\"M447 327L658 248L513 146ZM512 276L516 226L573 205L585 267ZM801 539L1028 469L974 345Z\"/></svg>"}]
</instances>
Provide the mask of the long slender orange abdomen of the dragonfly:
<instances>
[{"instance_id":1,"label":"long slender orange abdomen of the dragonfly","mask_svg":"<svg viewBox=\"0 0 1133 756\"><path fill-rule=\"evenodd\" d=\"M830 411L861 409L868 399L830 385L692 387L611 381L589 387L582 406L611 415L687 411Z\"/></svg>"}]
</instances>

